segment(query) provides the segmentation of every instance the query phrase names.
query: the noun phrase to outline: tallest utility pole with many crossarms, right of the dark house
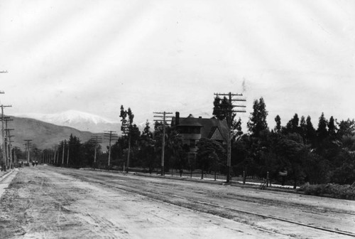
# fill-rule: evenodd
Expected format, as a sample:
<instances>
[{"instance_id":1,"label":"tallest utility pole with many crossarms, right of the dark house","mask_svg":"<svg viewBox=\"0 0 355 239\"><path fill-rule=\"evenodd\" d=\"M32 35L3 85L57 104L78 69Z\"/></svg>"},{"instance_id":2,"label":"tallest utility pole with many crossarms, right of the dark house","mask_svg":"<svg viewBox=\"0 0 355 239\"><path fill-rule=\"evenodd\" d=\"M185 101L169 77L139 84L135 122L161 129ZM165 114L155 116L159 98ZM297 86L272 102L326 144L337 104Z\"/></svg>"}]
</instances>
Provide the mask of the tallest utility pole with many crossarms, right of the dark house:
<instances>
[{"instance_id":1,"label":"tallest utility pole with many crossarms, right of the dark house","mask_svg":"<svg viewBox=\"0 0 355 239\"><path fill-rule=\"evenodd\" d=\"M216 97L219 97L220 95L227 97L229 105L226 106L223 110L226 112L226 123L228 124L228 136L227 136L227 156L226 156L226 167L227 167L227 173L226 173L226 182L229 183L231 181L231 125L232 121L235 117L236 112L246 112L246 110L241 109L245 108L245 105L233 105L233 102L243 102L246 101L244 98L241 98L240 96L243 96L243 94L233 94L231 92L229 93L214 93ZM233 98L236 97L237 98ZM237 110L233 110L234 107L237 108Z\"/></svg>"}]
</instances>

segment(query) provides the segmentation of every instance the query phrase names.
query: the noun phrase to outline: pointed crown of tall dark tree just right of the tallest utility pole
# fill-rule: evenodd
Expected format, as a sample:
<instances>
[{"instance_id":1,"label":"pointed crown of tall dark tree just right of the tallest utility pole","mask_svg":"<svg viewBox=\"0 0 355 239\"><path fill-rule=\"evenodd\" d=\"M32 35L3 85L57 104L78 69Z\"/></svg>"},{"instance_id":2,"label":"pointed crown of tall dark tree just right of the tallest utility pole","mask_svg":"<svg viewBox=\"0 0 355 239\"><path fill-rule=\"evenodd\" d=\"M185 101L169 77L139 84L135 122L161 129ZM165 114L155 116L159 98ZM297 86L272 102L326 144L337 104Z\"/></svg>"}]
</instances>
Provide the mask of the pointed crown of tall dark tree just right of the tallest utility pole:
<instances>
[{"instance_id":1,"label":"pointed crown of tall dark tree just right of the tallest utility pole","mask_svg":"<svg viewBox=\"0 0 355 239\"><path fill-rule=\"evenodd\" d=\"M260 100L254 100L253 112L247 123L249 132L254 136L258 137L261 131L268 129L268 123L266 122L266 117L268 112L266 111L266 105L263 97Z\"/></svg>"}]
</instances>

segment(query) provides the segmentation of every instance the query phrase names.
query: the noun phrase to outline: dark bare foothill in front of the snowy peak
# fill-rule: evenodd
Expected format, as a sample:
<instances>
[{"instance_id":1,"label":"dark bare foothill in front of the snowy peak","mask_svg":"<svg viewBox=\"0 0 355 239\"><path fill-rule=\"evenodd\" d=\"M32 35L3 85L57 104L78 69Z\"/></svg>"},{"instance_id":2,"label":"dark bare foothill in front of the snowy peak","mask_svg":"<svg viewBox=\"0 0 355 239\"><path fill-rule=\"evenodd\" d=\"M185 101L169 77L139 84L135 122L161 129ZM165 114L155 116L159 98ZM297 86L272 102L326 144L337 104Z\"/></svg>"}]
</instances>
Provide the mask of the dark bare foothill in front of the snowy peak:
<instances>
[{"instance_id":1,"label":"dark bare foothill in front of the snowy peak","mask_svg":"<svg viewBox=\"0 0 355 239\"><path fill-rule=\"evenodd\" d=\"M50 124L37 119L14 117L13 121L9 122L9 128L13 134L13 147L24 149L23 144L25 139L33 139L31 142L38 149L52 149L55 144L59 144L64 139L69 139L70 134L80 139L80 142L87 142L92 136L101 136L104 139L103 133L92 133L80 131L78 129L66 126ZM106 147L109 144L107 139L103 140L102 146Z\"/></svg>"}]
</instances>

